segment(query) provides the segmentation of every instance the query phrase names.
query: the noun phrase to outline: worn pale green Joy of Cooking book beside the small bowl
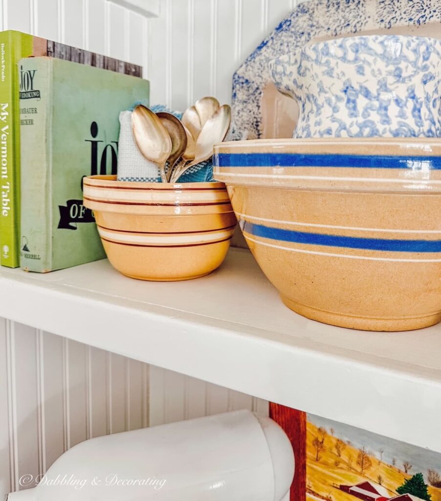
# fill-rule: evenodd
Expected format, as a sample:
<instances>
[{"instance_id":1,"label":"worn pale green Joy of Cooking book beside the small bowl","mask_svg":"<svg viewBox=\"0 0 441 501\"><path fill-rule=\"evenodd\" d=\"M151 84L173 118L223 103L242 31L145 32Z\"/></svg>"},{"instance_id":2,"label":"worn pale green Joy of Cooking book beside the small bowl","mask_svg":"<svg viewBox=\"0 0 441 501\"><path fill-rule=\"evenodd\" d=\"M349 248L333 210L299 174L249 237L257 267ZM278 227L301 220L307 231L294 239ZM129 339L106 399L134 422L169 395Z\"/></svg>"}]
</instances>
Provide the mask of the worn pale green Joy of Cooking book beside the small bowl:
<instances>
[{"instance_id":1,"label":"worn pale green Joy of Cooking book beside the small bowl","mask_svg":"<svg viewBox=\"0 0 441 501\"><path fill-rule=\"evenodd\" d=\"M105 257L86 175L116 174L119 113L148 104L147 80L37 57L19 62L21 267L50 272Z\"/></svg>"}]
</instances>

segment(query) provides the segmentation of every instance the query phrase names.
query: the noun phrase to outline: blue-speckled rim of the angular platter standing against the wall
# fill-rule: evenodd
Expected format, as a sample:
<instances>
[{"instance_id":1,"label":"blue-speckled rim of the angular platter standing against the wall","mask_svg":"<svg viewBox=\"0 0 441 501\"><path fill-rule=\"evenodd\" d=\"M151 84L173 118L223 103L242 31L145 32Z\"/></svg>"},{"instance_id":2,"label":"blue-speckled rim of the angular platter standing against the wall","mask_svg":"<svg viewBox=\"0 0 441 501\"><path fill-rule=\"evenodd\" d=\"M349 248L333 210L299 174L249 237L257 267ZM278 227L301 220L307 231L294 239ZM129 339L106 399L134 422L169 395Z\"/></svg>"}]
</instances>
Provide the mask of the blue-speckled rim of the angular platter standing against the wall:
<instances>
[{"instance_id":1,"label":"blue-speckled rim of the angular platter standing against the wall","mask_svg":"<svg viewBox=\"0 0 441 501\"><path fill-rule=\"evenodd\" d=\"M232 122L235 139L261 137L261 98L270 82L268 63L295 53L319 37L360 31L441 23L439 0L309 0L300 3L233 76Z\"/></svg>"}]
</instances>

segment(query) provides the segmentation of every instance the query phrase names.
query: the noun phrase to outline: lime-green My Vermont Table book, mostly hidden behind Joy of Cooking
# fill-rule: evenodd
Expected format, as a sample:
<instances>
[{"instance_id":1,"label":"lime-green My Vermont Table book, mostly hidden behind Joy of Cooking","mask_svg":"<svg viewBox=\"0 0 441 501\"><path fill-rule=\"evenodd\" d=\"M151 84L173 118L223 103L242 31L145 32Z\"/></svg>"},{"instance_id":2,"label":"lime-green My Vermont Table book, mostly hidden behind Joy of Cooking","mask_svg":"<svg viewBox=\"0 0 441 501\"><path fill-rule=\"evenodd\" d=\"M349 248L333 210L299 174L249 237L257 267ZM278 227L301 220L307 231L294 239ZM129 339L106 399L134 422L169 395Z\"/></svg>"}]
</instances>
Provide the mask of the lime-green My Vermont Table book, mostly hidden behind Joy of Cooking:
<instances>
[{"instance_id":1,"label":"lime-green My Vermont Table book, mostly hidden behind Joy of Cooking","mask_svg":"<svg viewBox=\"0 0 441 501\"><path fill-rule=\"evenodd\" d=\"M0 32L0 141L2 158L2 246L0 262L20 265L20 103L17 63L29 56L58 59L141 77L142 67L18 31Z\"/></svg>"}]
</instances>

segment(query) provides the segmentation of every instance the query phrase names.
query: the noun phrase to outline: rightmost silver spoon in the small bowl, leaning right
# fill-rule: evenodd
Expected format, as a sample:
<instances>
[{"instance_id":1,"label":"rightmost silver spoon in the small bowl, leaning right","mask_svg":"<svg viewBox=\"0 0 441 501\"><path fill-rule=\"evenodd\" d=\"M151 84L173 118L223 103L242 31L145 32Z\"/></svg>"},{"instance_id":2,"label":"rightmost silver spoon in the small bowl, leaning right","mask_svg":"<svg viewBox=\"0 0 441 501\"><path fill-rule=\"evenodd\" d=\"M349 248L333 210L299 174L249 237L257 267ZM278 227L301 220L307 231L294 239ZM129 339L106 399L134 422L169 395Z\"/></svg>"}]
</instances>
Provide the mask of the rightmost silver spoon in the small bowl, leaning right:
<instances>
[{"instance_id":1,"label":"rightmost silver spoon in the small bowl, leaning right","mask_svg":"<svg viewBox=\"0 0 441 501\"><path fill-rule=\"evenodd\" d=\"M194 160L178 164L172 173L171 182L176 182L187 169L208 160L213 155L213 145L223 141L230 121L231 109L227 104L224 104L205 122L196 141Z\"/></svg>"}]
</instances>

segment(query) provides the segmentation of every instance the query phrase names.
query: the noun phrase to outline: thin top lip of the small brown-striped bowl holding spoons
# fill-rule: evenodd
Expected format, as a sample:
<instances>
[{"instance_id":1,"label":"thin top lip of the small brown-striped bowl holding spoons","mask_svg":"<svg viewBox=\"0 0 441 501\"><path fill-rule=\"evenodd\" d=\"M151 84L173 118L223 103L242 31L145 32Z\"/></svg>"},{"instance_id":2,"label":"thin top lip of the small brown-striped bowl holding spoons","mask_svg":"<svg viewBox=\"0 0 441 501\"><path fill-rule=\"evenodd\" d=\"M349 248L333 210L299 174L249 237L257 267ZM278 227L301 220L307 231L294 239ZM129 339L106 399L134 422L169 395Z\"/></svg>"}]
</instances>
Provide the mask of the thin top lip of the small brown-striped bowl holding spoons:
<instances>
[{"instance_id":1,"label":"thin top lip of the small brown-striped bowl holding spoons","mask_svg":"<svg viewBox=\"0 0 441 501\"><path fill-rule=\"evenodd\" d=\"M89 181L89 182L85 182ZM195 190L222 190L226 189L225 183L213 182L193 182L193 183L161 183L145 181L118 181L116 174L98 174L85 176L83 185L92 188L114 188L114 189L138 189L138 190L161 190L161 191L195 191Z\"/></svg>"}]
</instances>

